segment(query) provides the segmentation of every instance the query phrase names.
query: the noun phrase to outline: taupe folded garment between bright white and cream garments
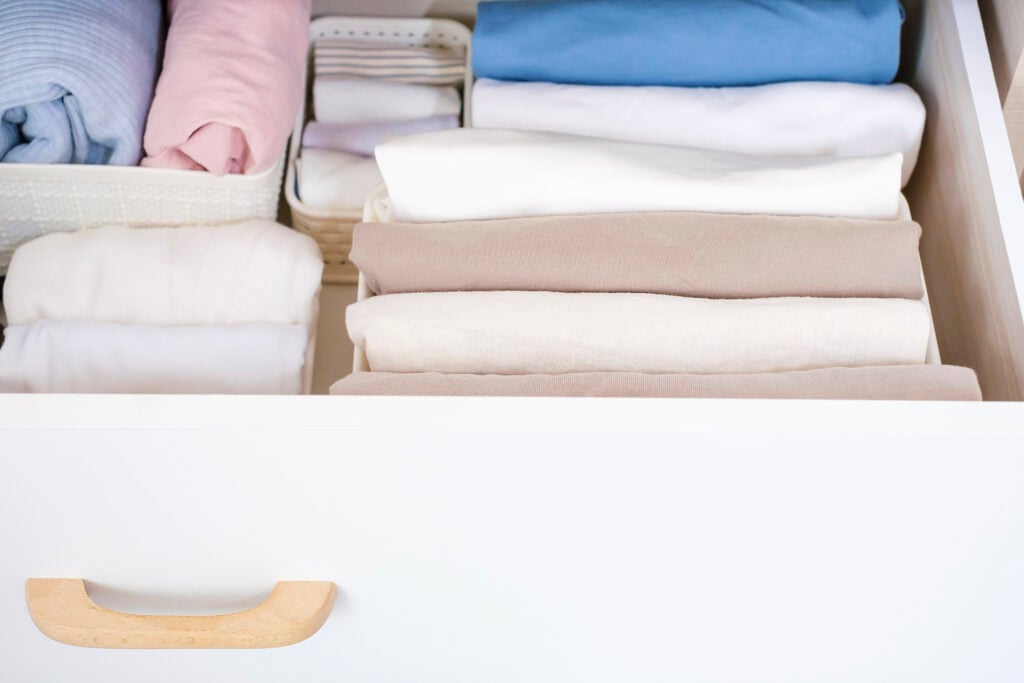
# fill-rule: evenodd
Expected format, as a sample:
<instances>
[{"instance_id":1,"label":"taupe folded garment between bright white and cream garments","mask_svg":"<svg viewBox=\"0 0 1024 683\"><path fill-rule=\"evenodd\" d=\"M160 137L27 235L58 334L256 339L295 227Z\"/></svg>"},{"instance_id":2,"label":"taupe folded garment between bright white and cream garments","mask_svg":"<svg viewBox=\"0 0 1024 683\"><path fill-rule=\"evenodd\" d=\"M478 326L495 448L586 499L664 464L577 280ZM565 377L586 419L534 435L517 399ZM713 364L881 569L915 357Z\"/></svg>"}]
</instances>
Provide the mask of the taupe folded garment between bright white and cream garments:
<instances>
[{"instance_id":1,"label":"taupe folded garment between bright white and cream garments","mask_svg":"<svg viewBox=\"0 0 1024 683\"><path fill-rule=\"evenodd\" d=\"M920 299L910 221L710 213L360 223L351 260L378 294L631 292Z\"/></svg>"}]
</instances>

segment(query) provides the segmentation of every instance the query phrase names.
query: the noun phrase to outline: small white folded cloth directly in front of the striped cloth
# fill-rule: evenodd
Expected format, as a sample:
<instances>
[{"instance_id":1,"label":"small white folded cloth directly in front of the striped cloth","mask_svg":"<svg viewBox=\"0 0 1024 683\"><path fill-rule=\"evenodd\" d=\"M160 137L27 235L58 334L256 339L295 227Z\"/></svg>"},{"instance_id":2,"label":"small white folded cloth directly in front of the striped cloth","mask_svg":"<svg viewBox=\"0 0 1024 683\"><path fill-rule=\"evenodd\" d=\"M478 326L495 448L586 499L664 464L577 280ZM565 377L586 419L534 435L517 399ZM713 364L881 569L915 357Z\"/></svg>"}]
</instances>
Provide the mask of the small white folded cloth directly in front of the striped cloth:
<instances>
[{"instance_id":1,"label":"small white folded cloth directly in front of the striped cloth","mask_svg":"<svg viewBox=\"0 0 1024 683\"><path fill-rule=\"evenodd\" d=\"M313 113L326 123L404 121L461 112L462 97L452 86L331 76L313 80Z\"/></svg>"}]
</instances>

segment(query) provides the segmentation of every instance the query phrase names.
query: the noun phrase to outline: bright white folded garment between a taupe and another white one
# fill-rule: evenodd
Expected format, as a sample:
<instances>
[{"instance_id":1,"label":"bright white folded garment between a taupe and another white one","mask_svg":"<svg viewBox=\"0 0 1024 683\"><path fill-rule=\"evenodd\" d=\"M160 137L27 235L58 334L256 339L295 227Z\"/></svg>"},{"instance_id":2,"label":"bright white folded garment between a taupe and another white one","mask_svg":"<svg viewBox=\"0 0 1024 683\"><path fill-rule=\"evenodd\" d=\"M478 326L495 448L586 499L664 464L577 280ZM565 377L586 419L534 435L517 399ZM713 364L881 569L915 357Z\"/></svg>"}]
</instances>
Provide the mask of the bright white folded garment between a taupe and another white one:
<instances>
[{"instance_id":1,"label":"bright white folded garment between a taupe and another white one","mask_svg":"<svg viewBox=\"0 0 1024 683\"><path fill-rule=\"evenodd\" d=\"M394 219L413 222L632 211L891 220L902 174L898 154L769 157L475 128L388 140L377 162Z\"/></svg>"}]
</instances>

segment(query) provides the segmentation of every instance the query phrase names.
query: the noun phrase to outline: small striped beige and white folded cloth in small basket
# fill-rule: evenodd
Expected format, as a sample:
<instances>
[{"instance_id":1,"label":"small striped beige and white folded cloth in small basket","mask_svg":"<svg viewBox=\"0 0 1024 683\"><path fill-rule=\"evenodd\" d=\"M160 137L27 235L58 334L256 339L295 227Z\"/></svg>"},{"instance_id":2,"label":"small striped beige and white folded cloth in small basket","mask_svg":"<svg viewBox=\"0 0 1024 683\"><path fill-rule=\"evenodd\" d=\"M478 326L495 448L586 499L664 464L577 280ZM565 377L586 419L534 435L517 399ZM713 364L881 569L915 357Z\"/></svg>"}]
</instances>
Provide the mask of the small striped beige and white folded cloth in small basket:
<instances>
[{"instance_id":1,"label":"small striped beige and white folded cloth in small basket","mask_svg":"<svg viewBox=\"0 0 1024 683\"><path fill-rule=\"evenodd\" d=\"M466 78L466 48L318 40L313 44L313 68L316 76L456 85Z\"/></svg>"}]
</instances>

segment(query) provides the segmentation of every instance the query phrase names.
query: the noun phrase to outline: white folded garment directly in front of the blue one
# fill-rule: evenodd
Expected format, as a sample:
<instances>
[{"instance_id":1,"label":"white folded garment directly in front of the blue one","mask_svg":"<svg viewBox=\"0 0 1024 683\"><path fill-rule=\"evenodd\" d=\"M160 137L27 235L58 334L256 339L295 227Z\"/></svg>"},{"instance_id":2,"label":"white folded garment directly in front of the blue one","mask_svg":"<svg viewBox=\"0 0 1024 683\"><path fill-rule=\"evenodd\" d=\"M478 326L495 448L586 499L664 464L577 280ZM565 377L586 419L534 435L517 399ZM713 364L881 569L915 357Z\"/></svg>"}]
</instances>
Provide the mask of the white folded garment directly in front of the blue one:
<instances>
[{"instance_id":1,"label":"white folded garment directly in front of the blue one","mask_svg":"<svg viewBox=\"0 0 1024 683\"><path fill-rule=\"evenodd\" d=\"M902 83L668 88L480 79L473 85L473 126L783 157L898 152L906 185L921 151L925 104Z\"/></svg>"}]
</instances>

